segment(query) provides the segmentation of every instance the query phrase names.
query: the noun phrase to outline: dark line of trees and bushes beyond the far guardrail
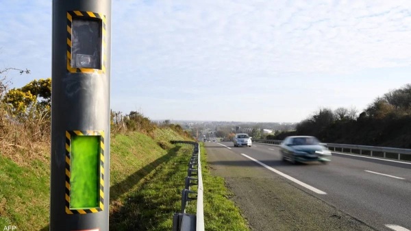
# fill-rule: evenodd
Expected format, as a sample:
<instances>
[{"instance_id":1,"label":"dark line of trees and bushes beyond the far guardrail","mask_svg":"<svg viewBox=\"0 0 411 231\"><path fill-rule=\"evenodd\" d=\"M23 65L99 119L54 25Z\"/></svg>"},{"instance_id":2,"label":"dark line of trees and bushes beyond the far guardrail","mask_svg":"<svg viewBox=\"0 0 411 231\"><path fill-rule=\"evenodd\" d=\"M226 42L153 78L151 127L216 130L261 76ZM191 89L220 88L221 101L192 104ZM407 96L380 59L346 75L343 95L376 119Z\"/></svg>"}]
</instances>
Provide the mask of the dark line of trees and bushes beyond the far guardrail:
<instances>
[{"instance_id":1,"label":"dark line of trees and bushes beyond the far guardrail","mask_svg":"<svg viewBox=\"0 0 411 231\"><path fill-rule=\"evenodd\" d=\"M411 148L411 84L377 97L359 113L356 108L320 108L299 122L291 135L316 136L325 143Z\"/></svg>"}]
</instances>

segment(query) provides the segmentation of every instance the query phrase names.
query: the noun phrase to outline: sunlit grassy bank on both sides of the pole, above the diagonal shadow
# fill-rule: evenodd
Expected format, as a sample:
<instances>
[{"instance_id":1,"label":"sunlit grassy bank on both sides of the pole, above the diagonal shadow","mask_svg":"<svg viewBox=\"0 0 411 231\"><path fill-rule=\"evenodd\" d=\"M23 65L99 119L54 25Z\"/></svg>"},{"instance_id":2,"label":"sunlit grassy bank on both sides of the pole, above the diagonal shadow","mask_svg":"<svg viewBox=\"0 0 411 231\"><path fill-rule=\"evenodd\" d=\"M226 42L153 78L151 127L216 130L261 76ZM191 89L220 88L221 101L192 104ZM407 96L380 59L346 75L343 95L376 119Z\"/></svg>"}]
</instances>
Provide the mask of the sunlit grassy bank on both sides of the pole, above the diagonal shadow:
<instances>
[{"instance_id":1,"label":"sunlit grassy bank on both sides of the pole, above the diagonal shadow","mask_svg":"<svg viewBox=\"0 0 411 231\"><path fill-rule=\"evenodd\" d=\"M162 161L161 157L167 154L158 142L167 145L164 141L184 139L171 129L155 130L153 136L154 139L134 132L111 138L110 203L113 208L119 206L119 199L127 191L134 189L135 184L157 167ZM47 230L50 197L49 161L49 158L41 158L41 161L30 160L17 165L10 158L0 154L0 227L17 226L19 230Z\"/></svg>"}]
</instances>

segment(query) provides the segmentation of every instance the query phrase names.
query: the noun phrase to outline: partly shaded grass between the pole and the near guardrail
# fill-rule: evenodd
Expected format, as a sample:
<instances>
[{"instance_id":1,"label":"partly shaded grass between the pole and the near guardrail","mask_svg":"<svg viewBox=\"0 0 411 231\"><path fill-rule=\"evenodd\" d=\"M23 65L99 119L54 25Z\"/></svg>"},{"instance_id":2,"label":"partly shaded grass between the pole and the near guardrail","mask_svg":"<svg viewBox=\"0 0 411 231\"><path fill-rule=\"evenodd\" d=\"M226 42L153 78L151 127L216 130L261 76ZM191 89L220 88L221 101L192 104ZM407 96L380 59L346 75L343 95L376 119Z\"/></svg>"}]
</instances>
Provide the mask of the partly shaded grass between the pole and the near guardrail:
<instances>
[{"instance_id":1,"label":"partly shaded grass between the pole and the near guardrail","mask_svg":"<svg viewBox=\"0 0 411 231\"><path fill-rule=\"evenodd\" d=\"M173 215L181 206L181 190L192 149L174 147L164 162L146 176L123 206L110 216L112 230L171 230Z\"/></svg>"}]
</instances>

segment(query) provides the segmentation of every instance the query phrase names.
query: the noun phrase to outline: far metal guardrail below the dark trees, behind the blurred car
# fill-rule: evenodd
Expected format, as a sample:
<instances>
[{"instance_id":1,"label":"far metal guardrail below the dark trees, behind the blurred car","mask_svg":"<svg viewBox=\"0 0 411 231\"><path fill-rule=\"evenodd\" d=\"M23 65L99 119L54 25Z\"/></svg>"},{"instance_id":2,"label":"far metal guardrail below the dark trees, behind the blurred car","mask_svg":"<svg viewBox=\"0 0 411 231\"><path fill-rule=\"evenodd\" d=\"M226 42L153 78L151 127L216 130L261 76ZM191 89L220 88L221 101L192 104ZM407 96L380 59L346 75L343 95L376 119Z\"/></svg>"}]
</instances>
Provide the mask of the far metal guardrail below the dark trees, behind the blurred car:
<instances>
[{"instance_id":1,"label":"far metal guardrail below the dark trees, behind the blurred car","mask_svg":"<svg viewBox=\"0 0 411 231\"><path fill-rule=\"evenodd\" d=\"M254 140L254 143L269 143L279 145L281 140ZM396 147L377 147L367 145L345 145L339 143L323 143L331 151L339 151L349 154L358 154L364 156L374 156L380 158L390 158L397 160L411 160L411 149Z\"/></svg>"}]
</instances>

